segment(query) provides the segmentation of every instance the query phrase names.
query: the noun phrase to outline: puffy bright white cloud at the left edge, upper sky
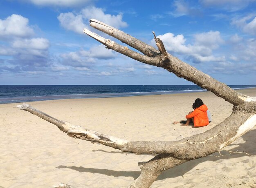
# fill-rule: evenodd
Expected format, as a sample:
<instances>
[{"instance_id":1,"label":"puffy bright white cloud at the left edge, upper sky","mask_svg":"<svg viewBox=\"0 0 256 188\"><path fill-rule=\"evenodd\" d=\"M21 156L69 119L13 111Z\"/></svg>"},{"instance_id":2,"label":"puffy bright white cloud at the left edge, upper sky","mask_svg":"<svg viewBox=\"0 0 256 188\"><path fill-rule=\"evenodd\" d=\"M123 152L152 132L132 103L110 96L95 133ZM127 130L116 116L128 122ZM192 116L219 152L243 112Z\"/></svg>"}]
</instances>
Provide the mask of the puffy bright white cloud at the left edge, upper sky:
<instances>
[{"instance_id":1,"label":"puffy bright white cloud at the left edge, upper sky","mask_svg":"<svg viewBox=\"0 0 256 188\"><path fill-rule=\"evenodd\" d=\"M31 37L34 35L34 30L28 23L27 18L17 14L0 20L0 38Z\"/></svg>"}]
</instances>

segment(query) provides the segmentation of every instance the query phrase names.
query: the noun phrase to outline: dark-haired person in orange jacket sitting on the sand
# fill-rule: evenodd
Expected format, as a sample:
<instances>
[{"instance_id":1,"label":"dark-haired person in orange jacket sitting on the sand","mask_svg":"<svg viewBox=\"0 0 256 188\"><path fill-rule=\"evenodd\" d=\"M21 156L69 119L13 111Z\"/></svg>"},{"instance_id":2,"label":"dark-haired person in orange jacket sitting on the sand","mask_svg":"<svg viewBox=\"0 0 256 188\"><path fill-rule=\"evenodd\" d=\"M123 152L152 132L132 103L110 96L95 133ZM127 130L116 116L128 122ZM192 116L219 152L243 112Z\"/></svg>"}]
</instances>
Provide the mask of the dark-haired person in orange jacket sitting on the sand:
<instances>
[{"instance_id":1,"label":"dark-haired person in orange jacket sitting on the sand","mask_svg":"<svg viewBox=\"0 0 256 188\"><path fill-rule=\"evenodd\" d=\"M198 98L193 103L192 108L194 109L194 111L189 112L189 114L186 115L186 118L187 118L186 121L173 122L173 124L185 123L184 126L187 126L192 121L195 127L207 126L209 124L209 119L207 116L207 110L208 110L207 106L202 102L201 99Z\"/></svg>"}]
</instances>

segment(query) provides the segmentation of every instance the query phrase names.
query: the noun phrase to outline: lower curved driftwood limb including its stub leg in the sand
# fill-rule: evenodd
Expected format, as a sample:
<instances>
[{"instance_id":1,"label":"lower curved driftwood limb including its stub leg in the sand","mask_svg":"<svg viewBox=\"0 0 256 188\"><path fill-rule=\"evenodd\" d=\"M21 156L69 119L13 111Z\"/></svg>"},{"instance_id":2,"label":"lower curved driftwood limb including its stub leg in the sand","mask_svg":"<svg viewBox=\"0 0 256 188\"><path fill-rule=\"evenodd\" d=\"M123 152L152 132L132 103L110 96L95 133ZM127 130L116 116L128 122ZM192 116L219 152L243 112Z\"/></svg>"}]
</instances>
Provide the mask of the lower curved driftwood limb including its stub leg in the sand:
<instances>
[{"instance_id":1,"label":"lower curved driftwood limb including its stub leg in the sand","mask_svg":"<svg viewBox=\"0 0 256 188\"><path fill-rule=\"evenodd\" d=\"M130 188L148 188L165 170L191 159L207 156L233 142L256 124L255 105L250 113L235 112L211 130L175 142L131 142L58 120L28 104L16 106L56 125L67 135L131 153L162 153L141 166L141 174ZM238 108L237 110L239 110ZM244 109L243 106L241 109ZM240 110L241 110L240 109ZM254 111L253 111L254 109Z\"/></svg>"}]
</instances>

